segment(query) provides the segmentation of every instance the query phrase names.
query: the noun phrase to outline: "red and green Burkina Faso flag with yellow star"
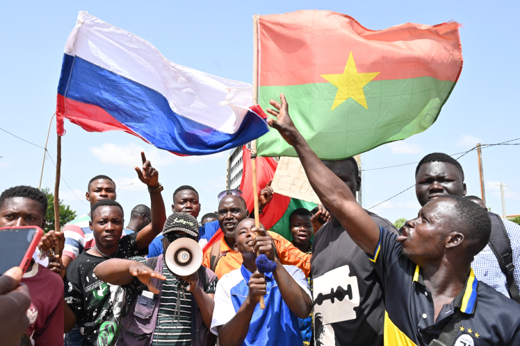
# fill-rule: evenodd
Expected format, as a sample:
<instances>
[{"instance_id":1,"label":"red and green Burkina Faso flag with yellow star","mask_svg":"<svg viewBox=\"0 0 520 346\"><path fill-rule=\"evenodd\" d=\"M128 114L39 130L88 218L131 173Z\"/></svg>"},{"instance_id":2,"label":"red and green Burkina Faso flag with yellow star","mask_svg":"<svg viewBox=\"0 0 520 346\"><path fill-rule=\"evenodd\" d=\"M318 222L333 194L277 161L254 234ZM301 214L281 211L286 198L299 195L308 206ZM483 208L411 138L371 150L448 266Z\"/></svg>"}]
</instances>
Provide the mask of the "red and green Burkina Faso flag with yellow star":
<instances>
[{"instance_id":1,"label":"red and green Burkina Faso flag with yellow star","mask_svg":"<svg viewBox=\"0 0 520 346\"><path fill-rule=\"evenodd\" d=\"M428 129L462 71L460 24L380 31L347 15L303 10L259 16L259 104L284 93L322 159L342 159ZM260 156L296 156L270 129Z\"/></svg>"}]
</instances>

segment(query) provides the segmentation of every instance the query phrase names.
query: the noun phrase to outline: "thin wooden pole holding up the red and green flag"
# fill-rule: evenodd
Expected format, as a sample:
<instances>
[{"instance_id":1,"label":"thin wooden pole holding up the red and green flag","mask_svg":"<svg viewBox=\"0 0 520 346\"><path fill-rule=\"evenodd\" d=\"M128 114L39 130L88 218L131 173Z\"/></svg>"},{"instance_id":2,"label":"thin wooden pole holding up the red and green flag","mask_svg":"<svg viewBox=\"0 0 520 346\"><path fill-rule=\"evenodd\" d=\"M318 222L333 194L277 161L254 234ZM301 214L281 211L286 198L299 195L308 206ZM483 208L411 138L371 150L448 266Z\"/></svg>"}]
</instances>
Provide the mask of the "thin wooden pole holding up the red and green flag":
<instances>
[{"instance_id":1,"label":"thin wooden pole holding up the red and green flag","mask_svg":"<svg viewBox=\"0 0 520 346\"><path fill-rule=\"evenodd\" d=\"M253 105L258 104L258 19L259 15L253 16ZM251 168L253 176L253 200L254 200L254 226L260 227L258 210L258 187L257 187L257 141L251 142ZM257 232L257 236L259 236ZM259 254L257 254L258 256ZM266 309L263 296L260 297L260 309Z\"/></svg>"}]
</instances>

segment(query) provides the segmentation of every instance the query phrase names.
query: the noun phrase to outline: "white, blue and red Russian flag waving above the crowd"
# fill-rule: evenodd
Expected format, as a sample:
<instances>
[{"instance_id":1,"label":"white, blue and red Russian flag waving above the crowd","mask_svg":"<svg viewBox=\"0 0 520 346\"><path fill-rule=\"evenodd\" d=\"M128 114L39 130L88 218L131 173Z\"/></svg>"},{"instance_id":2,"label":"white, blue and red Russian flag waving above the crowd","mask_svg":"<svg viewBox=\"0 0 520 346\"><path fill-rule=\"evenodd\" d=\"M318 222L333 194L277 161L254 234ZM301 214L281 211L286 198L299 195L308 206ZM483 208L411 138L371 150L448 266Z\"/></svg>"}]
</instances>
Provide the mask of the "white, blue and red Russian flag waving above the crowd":
<instances>
[{"instance_id":1,"label":"white, blue and red Russian flag waving above the crowd","mask_svg":"<svg viewBox=\"0 0 520 346\"><path fill-rule=\"evenodd\" d=\"M122 130L179 155L208 155L268 132L252 86L174 64L146 40L79 12L56 105L89 132ZM251 107L250 107L251 106Z\"/></svg>"}]
</instances>

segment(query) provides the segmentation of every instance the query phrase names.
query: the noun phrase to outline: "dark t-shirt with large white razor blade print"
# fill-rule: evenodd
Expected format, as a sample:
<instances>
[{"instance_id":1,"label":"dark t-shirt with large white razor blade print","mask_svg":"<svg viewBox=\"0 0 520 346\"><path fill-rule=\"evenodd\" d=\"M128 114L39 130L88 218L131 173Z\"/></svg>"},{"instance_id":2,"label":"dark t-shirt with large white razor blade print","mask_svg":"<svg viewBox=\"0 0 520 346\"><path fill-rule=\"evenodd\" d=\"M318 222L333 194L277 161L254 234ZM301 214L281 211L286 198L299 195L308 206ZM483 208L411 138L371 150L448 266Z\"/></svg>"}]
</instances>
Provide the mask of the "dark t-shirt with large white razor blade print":
<instances>
[{"instance_id":1,"label":"dark t-shirt with large white razor blade print","mask_svg":"<svg viewBox=\"0 0 520 346\"><path fill-rule=\"evenodd\" d=\"M389 220L367 213L397 233ZM339 223L325 223L313 247L315 345L383 345L384 303L374 263Z\"/></svg>"}]
</instances>

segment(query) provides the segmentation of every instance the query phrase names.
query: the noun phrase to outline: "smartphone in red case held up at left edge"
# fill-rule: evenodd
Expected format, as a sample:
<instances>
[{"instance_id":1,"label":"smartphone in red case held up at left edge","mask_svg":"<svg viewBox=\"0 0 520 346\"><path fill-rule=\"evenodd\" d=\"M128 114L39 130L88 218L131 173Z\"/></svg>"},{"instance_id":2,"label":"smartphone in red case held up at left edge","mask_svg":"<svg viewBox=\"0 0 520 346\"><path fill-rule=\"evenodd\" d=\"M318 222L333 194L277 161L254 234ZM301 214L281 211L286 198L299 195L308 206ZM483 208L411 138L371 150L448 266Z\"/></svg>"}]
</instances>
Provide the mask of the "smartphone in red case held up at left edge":
<instances>
[{"instance_id":1,"label":"smartphone in red case held up at left edge","mask_svg":"<svg viewBox=\"0 0 520 346\"><path fill-rule=\"evenodd\" d=\"M0 275L13 267L25 273L42 235L37 226L0 228Z\"/></svg>"}]
</instances>

